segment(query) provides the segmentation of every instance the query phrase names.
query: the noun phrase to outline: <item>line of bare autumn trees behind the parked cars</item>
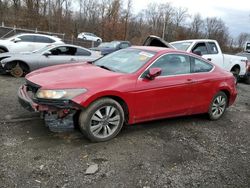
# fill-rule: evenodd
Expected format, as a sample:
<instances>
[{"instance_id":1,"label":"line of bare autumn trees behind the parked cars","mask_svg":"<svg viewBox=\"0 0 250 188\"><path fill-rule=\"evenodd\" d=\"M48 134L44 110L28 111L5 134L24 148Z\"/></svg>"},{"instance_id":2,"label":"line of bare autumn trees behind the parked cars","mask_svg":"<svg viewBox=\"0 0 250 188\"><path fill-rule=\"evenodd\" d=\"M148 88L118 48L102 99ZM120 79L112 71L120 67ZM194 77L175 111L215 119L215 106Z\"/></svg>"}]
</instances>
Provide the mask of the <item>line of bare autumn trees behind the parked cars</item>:
<instances>
[{"instance_id":1,"label":"line of bare autumn trees behind the parked cars","mask_svg":"<svg viewBox=\"0 0 250 188\"><path fill-rule=\"evenodd\" d=\"M151 3L135 14L133 0L0 0L0 21L65 33L69 38L83 31L93 32L104 41L130 40L133 44L142 44L149 34L169 42L210 38L226 51L242 48L249 38L249 34L241 33L233 39L222 19L191 16L188 9L170 3Z\"/></svg>"}]
</instances>

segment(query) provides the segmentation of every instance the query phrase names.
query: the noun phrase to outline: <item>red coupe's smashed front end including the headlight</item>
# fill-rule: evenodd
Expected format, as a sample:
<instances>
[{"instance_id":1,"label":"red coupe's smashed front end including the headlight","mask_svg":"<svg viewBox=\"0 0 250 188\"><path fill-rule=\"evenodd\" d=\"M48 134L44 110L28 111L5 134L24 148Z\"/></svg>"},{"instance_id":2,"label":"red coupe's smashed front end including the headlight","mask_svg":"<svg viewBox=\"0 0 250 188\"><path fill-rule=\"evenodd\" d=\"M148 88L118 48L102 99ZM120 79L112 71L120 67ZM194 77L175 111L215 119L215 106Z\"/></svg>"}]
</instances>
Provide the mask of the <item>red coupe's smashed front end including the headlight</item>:
<instances>
[{"instance_id":1,"label":"red coupe's smashed front end including the headlight","mask_svg":"<svg viewBox=\"0 0 250 188\"><path fill-rule=\"evenodd\" d=\"M26 110L40 112L51 131L63 132L74 129L81 107L70 98L82 92L83 89L44 90L27 80L18 90L18 100Z\"/></svg>"}]
</instances>

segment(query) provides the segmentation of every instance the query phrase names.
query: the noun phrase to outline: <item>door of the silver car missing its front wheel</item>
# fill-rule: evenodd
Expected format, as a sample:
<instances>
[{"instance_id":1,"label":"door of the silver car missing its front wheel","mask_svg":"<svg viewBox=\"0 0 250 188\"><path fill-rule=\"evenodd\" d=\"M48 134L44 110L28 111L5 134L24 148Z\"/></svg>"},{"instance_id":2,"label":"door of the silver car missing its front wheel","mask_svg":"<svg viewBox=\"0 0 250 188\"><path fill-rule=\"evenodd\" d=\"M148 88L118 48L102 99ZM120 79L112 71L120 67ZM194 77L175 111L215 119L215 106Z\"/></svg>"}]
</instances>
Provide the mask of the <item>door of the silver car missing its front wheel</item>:
<instances>
[{"instance_id":1,"label":"door of the silver car missing its front wheel","mask_svg":"<svg viewBox=\"0 0 250 188\"><path fill-rule=\"evenodd\" d=\"M44 53L40 59L39 67L66 64L76 62L76 48L69 46L59 46L51 49L50 54Z\"/></svg>"}]
</instances>

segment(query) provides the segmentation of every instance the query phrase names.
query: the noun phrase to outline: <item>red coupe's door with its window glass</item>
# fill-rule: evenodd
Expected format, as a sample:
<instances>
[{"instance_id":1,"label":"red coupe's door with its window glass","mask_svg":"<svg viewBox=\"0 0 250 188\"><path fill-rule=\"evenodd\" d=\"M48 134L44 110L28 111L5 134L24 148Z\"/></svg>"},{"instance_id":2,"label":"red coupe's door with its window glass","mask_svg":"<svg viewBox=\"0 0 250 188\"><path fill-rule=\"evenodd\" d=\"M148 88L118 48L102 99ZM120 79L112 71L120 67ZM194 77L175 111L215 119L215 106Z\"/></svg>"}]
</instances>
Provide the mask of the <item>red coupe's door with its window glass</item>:
<instances>
[{"instance_id":1,"label":"red coupe's door with its window glass","mask_svg":"<svg viewBox=\"0 0 250 188\"><path fill-rule=\"evenodd\" d=\"M135 120L157 119L189 114L191 106L190 58L183 54L167 54L158 58L149 68L162 69L154 80L138 79L135 94Z\"/></svg>"}]
</instances>

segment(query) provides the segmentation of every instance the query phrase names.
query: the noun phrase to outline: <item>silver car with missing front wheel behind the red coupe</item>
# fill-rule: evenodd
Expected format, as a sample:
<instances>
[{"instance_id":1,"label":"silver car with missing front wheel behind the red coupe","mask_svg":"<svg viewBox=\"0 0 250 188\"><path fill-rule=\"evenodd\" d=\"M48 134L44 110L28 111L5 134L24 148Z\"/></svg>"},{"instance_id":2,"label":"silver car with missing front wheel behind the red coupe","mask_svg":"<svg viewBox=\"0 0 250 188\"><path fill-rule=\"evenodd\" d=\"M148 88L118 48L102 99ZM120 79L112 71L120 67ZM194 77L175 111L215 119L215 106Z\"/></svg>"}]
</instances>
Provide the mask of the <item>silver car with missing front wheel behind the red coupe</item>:
<instances>
[{"instance_id":1,"label":"silver car with missing front wheel behind the red coupe","mask_svg":"<svg viewBox=\"0 0 250 188\"><path fill-rule=\"evenodd\" d=\"M21 77L42 67L81 61L94 61L100 57L99 52L80 46L68 44L48 45L33 52L0 54L0 72Z\"/></svg>"}]
</instances>

